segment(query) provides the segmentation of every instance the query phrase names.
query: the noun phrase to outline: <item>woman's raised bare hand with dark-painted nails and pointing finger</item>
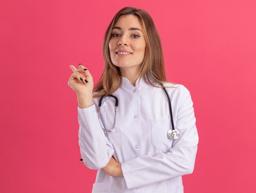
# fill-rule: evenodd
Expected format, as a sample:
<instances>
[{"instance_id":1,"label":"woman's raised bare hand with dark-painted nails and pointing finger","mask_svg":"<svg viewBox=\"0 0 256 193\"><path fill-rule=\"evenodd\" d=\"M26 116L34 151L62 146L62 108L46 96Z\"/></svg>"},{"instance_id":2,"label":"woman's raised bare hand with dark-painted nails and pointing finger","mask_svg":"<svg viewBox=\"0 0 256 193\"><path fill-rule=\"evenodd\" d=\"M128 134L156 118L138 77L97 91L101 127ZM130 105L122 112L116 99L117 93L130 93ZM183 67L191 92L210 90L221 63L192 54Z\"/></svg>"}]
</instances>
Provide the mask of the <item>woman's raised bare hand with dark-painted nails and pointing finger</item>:
<instances>
[{"instance_id":1,"label":"woman's raised bare hand with dark-painted nails and pointing finger","mask_svg":"<svg viewBox=\"0 0 256 193\"><path fill-rule=\"evenodd\" d=\"M70 68L74 73L71 74L67 85L70 88L72 88L77 95L79 94L84 94L85 96L92 95L93 79L88 69L81 64L79 64L78 69L76 69L76 67L74 67L73 65L70 65Z\"/></svg>"}]
</instances>

